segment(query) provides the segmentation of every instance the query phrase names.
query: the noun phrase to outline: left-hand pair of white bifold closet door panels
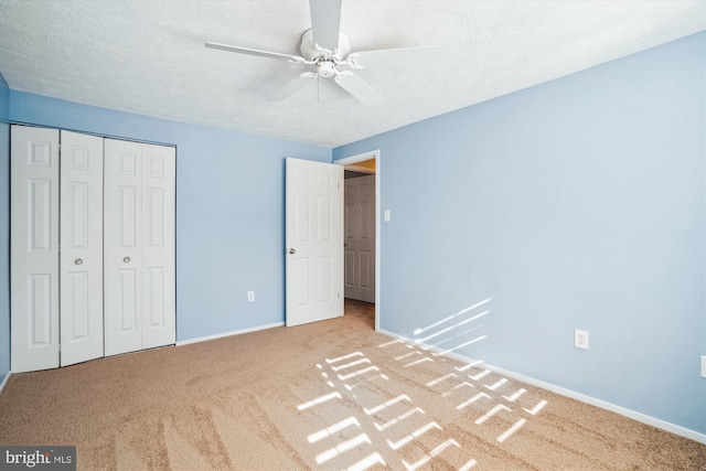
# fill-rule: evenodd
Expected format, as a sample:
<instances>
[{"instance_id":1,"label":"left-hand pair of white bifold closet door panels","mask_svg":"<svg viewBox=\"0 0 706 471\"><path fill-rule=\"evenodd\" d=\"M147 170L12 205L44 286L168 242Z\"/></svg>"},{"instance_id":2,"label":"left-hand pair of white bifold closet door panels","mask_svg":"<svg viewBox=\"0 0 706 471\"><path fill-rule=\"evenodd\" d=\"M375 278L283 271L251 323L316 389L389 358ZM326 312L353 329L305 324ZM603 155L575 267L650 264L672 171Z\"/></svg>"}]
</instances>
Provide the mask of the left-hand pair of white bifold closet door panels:
<instances>
[{"instance_id":1,"label":"left-hand pair of white bifold closet door panels","mask_svg":"<svg viewBox=\"0 0 706 471\"><path fill-rule=\"evenodd\" d=\"M97 358L103 139L22 126L11 132L12 371Z\"/></svg>"}]
</instances>

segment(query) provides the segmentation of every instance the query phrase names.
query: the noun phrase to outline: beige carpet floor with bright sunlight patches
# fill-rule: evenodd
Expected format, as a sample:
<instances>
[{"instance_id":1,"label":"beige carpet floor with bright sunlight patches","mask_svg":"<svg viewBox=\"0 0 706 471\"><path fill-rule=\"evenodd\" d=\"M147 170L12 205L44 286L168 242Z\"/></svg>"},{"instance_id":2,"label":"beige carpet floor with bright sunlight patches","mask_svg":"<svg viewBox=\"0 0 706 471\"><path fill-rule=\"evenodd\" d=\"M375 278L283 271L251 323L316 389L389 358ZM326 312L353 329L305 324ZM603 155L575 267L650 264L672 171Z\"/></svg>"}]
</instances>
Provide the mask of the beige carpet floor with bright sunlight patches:
<instances>
[{"instance_id":1,"label":"beige carpet floor with bright sunlight patches","mask_svg":"<svg viewBox=\"0 0 706 471\"><path fill-rule=\"evenodd\" d=\"M75 445L99 470L706 469L706 446L435 356L370 304L13 375L0 445Z\"/></svg>"}]
</instances>

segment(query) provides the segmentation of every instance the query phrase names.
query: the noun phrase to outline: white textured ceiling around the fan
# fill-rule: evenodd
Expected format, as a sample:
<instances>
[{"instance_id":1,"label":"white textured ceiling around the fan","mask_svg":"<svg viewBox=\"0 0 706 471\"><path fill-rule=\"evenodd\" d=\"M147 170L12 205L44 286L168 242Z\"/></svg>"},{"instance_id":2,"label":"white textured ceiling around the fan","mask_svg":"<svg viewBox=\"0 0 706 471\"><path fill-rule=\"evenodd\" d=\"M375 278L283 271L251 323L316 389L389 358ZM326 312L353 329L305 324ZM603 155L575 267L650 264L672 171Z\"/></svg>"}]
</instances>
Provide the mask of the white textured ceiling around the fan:
<instances>
[{"instance_id":1,"label":"white textured ceiling around the fan","mask_svg":"<svg viewBox=\"0 0 706 471\"><path fill-rule=\"evenodd\" d=\"M367 107L328 79L269 100L308 68L204 47L300 55L304 0L0 0L0 73L14 90L335 147L703 31L705 6L344 0L354 52L441 47L431 66L356 72L385 96Z\"/></svg>"}]
</instances>

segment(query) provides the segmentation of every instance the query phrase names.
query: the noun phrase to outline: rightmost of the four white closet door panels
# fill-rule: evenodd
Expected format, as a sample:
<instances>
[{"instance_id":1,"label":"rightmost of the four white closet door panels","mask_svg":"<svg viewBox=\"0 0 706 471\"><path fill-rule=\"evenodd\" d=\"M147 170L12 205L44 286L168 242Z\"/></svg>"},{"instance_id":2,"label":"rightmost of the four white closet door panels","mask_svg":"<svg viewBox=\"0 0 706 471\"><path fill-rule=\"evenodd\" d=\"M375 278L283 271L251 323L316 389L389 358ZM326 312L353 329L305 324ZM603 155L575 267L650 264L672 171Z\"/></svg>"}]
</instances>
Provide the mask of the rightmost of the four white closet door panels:
<instances>
[{"instance_id":1,"label":"rightmost of the four white closet door panels","mask_svg":"<svg viewBox=\"0 0 706 471\"><path fill-rule=\"evenodd\" d=\"M175 149L142 146L142 346L174 343Z\"/></svg>"}]
</instances>

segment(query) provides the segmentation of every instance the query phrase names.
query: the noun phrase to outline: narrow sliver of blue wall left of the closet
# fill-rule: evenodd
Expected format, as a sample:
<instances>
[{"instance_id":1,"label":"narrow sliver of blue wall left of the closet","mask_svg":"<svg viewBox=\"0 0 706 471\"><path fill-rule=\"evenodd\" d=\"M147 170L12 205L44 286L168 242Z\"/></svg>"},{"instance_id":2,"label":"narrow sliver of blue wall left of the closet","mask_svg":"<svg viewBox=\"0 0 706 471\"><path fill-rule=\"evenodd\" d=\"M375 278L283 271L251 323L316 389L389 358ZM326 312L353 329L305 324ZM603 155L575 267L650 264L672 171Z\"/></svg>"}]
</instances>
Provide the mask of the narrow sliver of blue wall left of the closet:
<instances>
[{"instance_id":1,"label":"narrow sliver of blue wall left of the closet","mask_svg":"<svg viewBox=\"0 0 706 471\"><path fill-rule=\"evenodd\" d=\"M0 384L10 372L10 89L0 74Z\"/></svg>"}]
</instances>

